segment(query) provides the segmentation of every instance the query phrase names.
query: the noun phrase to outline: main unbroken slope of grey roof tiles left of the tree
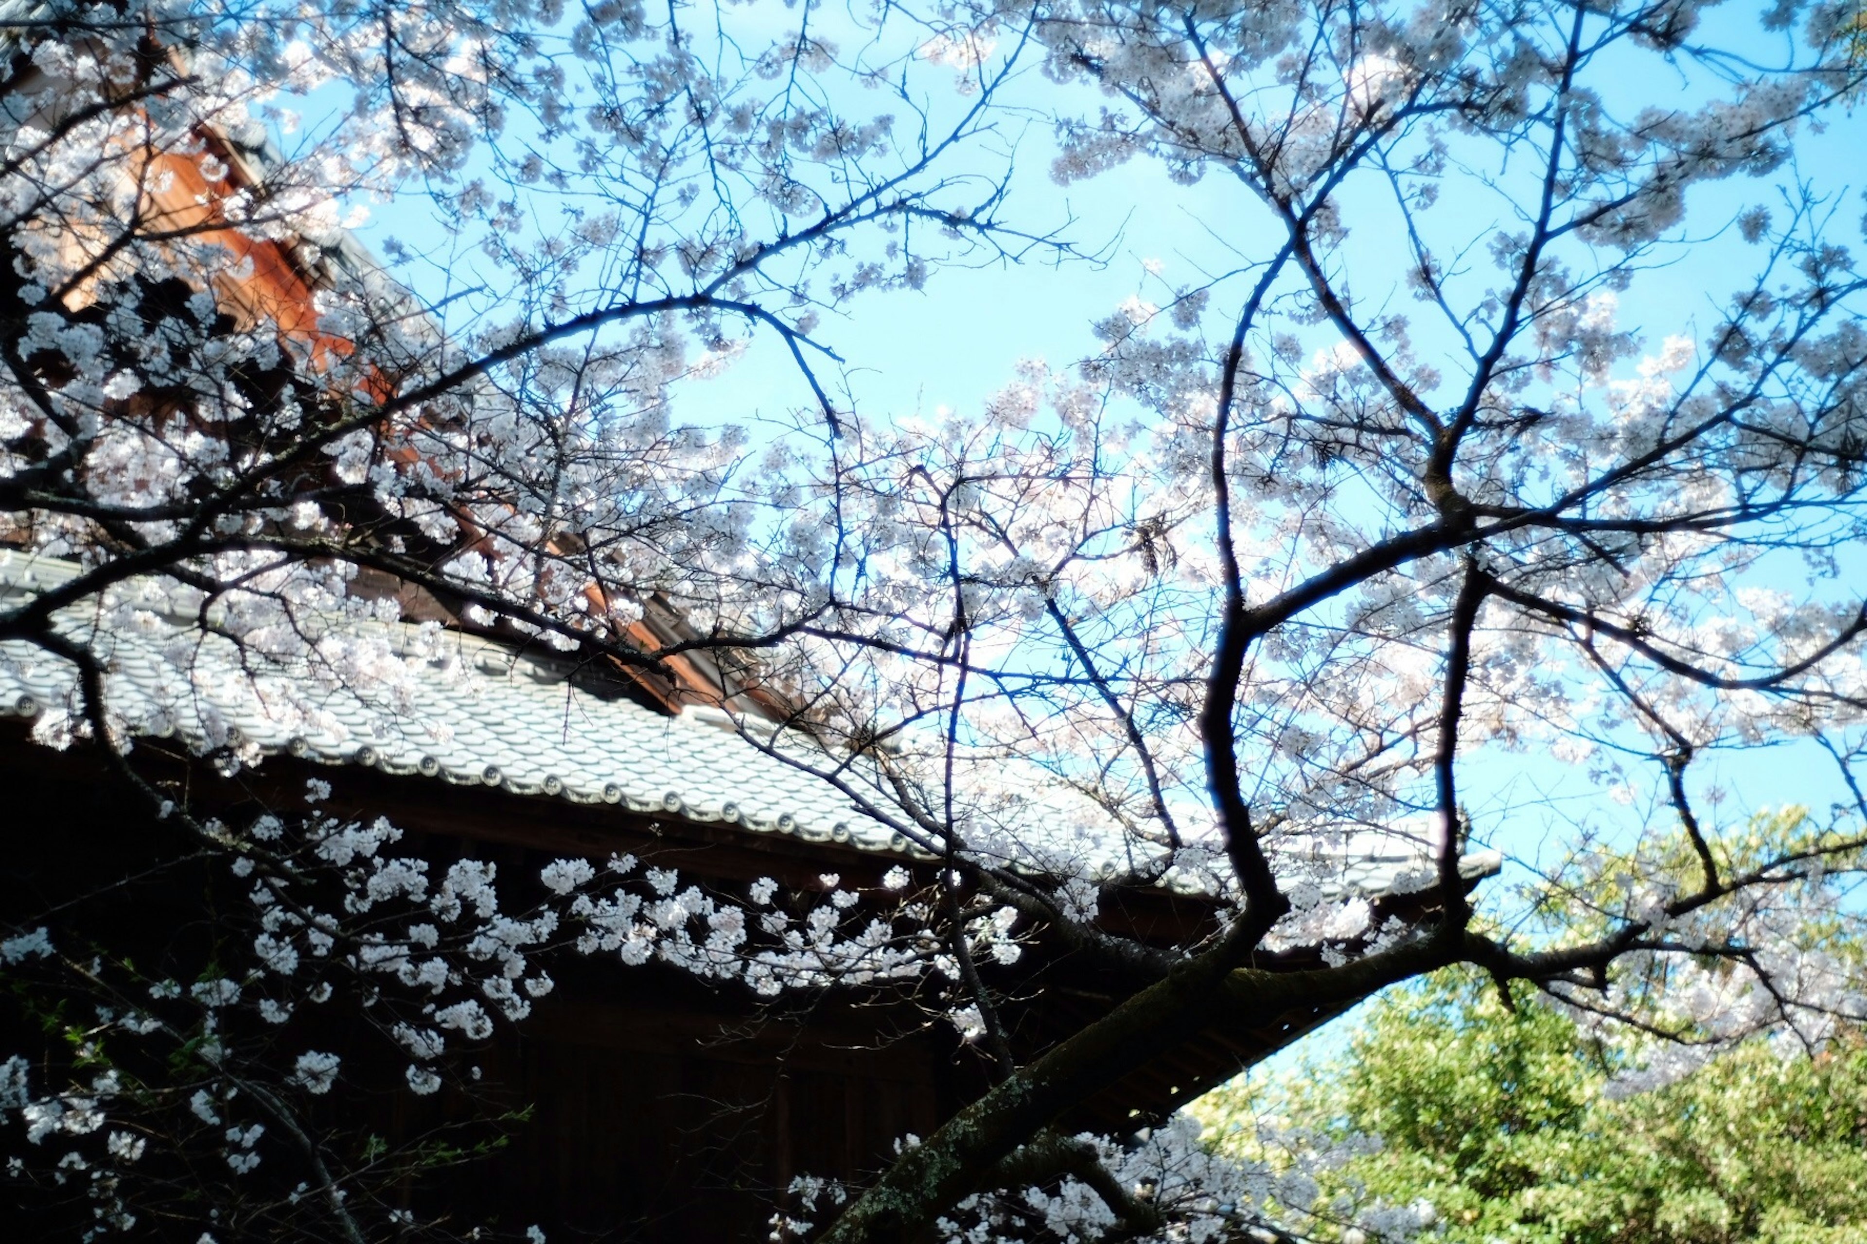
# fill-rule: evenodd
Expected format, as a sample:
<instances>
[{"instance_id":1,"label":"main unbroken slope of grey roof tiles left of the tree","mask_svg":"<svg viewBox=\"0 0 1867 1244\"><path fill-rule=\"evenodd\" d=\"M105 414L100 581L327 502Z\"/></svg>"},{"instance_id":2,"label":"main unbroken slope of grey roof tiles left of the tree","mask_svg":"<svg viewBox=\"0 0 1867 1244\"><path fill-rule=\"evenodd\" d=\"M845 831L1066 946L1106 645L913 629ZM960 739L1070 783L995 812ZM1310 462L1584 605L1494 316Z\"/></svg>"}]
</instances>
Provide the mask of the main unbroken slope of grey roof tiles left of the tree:
<instances>
[{"instance_id":1,"label":"main unbroken slope of grey roof tiles left of the tree","mask_svg":"<svg viewBox=\"0 0 1867 1244\"><path fill-rule=\"evenodd\" d=\"M0 593L19 599L75 573L69 563L0 554ZM547 660L497 643L362 623L358 630L411 660L400 696L357 690L314 662L254 660L224 636L202 636L181 619L140 630L99 630L84 610L65 610L60 630L91 645L108 668L112 709L131 733L174 733L190 744L232 726L260 755L431 774L463 785L500 785L577 802L624 804L691 821L734 821L756 832L831 839L848 826L853 845L898 850L894 832L863 815L829 783L721 729L702 714L663 716L629 699L573 686ZM187 664L170 645L189 640ZM0 705L9 712L69 712L75 671L26 642L0 643Z\"/></svg>"}]
</instances>

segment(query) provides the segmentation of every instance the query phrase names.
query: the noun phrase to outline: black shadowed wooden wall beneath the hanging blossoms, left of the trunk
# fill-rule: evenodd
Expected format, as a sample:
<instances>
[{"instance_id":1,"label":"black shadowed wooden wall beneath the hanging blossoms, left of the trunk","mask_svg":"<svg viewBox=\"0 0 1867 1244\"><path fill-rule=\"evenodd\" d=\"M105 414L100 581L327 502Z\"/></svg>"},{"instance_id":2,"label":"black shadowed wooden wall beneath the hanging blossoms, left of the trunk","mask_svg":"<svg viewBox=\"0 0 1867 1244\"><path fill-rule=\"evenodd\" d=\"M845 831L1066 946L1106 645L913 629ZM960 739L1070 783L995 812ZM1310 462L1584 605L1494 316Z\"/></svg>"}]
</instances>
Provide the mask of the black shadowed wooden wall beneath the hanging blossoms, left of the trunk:
<instances>
[{"instance_id":1,"label":"black shadowed wooden wall beneath the hanging blossoms, left of the trunk","mask_svg":"<svg viewBox=\"0 0 1867 1244\"><path fill-rule=\"evenodd\" d=\"M553 1240L765 1238L793 1175L861 1179L943 1115L928 1043L838 1046L777 1018L732 1039L743 1020L640 985L541 1007L500 1050L489 1074L536 1113L472 1175L485 1212Z\"/></svg>"}]
</instances>

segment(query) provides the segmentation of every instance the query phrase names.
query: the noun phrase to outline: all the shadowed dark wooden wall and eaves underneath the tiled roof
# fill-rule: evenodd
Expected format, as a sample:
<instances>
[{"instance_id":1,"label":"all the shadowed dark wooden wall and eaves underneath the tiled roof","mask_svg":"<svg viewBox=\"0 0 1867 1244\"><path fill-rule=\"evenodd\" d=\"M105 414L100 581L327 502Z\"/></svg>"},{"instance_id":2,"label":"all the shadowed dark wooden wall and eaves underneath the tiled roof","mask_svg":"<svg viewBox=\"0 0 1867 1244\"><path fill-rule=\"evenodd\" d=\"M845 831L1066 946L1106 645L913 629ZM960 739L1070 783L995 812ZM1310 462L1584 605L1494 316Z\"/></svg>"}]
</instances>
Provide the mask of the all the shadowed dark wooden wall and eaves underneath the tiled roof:
<instances>
[{"instance_id":1,"label":"all the shadowed dark wooden wall and eaves underneath the tiled roof","mask_svg":"<svg viewBox=\"0 0 1867 1244\"><path fill-rule=\"evenodd\" d=\"M230 819L299 806L304 780L325 778L334 785L329 811L390 817L409 830L398 850L424 854L437 869L461 856L493 860L502 897L521 906L538 869L566 854L603 860L627 850L734 890L767 875L808 890L823 871L868 888L891 865L909 862L289 757L224 780L207 765L147 744L138 748L138 765ZM9 919L63 901L63 892L134 875L177 847L170 830L155 826L108 780L93 753L30 744L19 722L0 722L0 789L7 793L0 809L0 910ZM200 882L166 877L131 890L142 905L136 919L177 944L211 936L213 895L204 901ZM224 886L224 869L204 880ZM237 903L232 893L222 899ZM1159 890L1111 893L1103 903L1105 925L1143 940L1178 942L1206 919L1208 905ZM325 1020L316 1048L344 1054L345 1078L373 1072L379 1087L375 1106L364 1106L375 1112L368 1125L392 1138L420 1138L476 1110L484 1115L487 1102L528 1115L504 1128L512 1141L500 1153L411 1186L411 1209L448 1214L461 1227L497 1220L523 1231L538 1223L553 1244L764 1240L771 1212L788 1205L793 1175L861 1181L898 1138L930 1134L984 1087L975 1052L958 1044L948 1024L904 998L851 992L767 1005L739 985L709 987L663 966L575 955L554 957L549 972L558 988L482 1052L478 1104L446 1091L413 1100L396 1087L405 1059L383 1037L360 1018L347 1026L336 1015ZM1029 1057L1139 983L1053 953L1040 934L1004 985L1003 1015ZM1182 1033L1178 1046L1163 1046L1133 1076L1081 1102L1066 1125L1115 1134L1144 1127L1326 1018L1266 1015L1249 1031ZM336 1095L314 1108L330 1112L325 1123L334 1130L357 1127L357 1119L334 1113Z\"/></svg>"}]
</instances>

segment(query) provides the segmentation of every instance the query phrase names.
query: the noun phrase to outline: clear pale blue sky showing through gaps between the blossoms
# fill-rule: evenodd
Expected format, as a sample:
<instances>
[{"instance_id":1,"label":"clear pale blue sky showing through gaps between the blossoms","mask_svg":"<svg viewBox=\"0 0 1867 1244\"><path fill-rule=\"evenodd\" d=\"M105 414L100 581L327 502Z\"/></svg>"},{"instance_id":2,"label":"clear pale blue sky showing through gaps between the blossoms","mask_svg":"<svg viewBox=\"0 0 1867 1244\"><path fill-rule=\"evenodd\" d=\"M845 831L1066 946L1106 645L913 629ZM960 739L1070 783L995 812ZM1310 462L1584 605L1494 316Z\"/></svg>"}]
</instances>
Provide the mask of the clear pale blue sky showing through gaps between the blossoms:
<instances>
[{"instance_id":1,"label":"clear pale blue sky showing through gaps between the blossoms","mask_svg":"<svg viewBox=\"0 0 1867 1244\"><path fill-rule=\"evenodd\" d=\"M1723 21L1749 17L1740 13ZM1044 88L1027 78L1018 90ZM1637 95L1690 101L1705 84L1688 75L1677 82L1626 76L1609 78L1604 90L1611 104L1632 106L1643 103ZM1624 99L1617 101L1617 93ZM306 112L316 116L314 108ZM1109 315L1122 300L1141 295L1161 302L1171 283L1236 267L1238 256L1253 257L1255 250L1268 250L1253 242L1264 218L1245 188L1223 175L1182 187L1172 185L1158 166L1137 160L1090 183L1057 187L1046 175L1049 159L1047 132L1042 125L1027 125L1019 140L1014 214L1036 228L1074 220L1070 241L1102 259L950 269L937 272L924 291L868 295L855 300L846 315L827 315L818 338L848 360L842 379L864 418L934 412L939 407L976 408L1014 377L1021 360L1068 366L1092 354L1100 347L1090 332L1092 321ZM1783 175L1813 181L1832 194L1843 231L1858 237L1852 222L1863 203L1860 185L1850 183L1863 168L1867 116L1843 114L1824 132L1804 134L1796 166ZM1770 181L1695 188L1688 218L1705 222L1703 235L1622 297L1622 326L1647 334L1650 345L1658 345L1663 336L1699 336L1716 323L1718 302L1748 278L1755 259L1734 231L1718 233L1718 226L1772 194ZM1352 214L1354 209L1352 203ZM431 237L428 211L420 196L377 205L360 233L375 246L392 233ZM1477 237L1505 220L1501 213L1501 201L1475 198L1449 201L1436 216L1443 231ZM1370 272L1391 270L1387 261L1404 246L1398 218L1389 213L1385 224L1378 216L1370 220L1352 235L1352 263L1357 270L1363 263ZM439 274L413 272L409 280L422 287L437 282ZM1357 293L1380 300L1382 291L1359 287ZM1215 315L1223 315L1225 302L1223 295L1214 298ZM1395 302L1404 306L1404 293ZM790 423L793 412L810 405L810 394L784 349L760 336L719 379L683 386L676 418L702 425L751 425L756 438L762 422ZM1867 560L1856 556L1852 567L1867 582ZM1699 767L1697 781L1701 796L1723 793L1716 819L1790 802L1822 808L1846 796L1826 757L1807 744L1710 757ZM1546 753L1486 755L1466 768L1462 783L1481 836L1523 856L1537 854L1551 817L1559 821L1568 808L1604 808L1600 789L1578 767ZM1649 793L1660 793L1658 772L1647 772L1635 783L1637 796ZM1647 821L1649 811L1665 815L1647 798L1635 798L1624 815L1635 824Z\"/></svg>"}]
</instances>

